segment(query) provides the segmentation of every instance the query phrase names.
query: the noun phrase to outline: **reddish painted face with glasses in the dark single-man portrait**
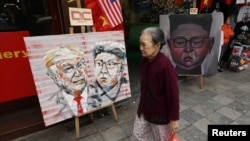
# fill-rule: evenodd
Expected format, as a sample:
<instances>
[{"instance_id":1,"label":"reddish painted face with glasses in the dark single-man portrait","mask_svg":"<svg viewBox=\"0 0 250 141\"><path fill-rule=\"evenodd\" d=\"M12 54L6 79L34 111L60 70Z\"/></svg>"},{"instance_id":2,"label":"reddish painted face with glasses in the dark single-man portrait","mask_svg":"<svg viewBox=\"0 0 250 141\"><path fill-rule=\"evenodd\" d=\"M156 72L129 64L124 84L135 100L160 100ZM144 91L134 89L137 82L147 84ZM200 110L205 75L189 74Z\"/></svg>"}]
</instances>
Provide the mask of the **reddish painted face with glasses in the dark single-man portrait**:
<instances>
[{"instance_id":1,"label":"reddish painted face with glasses in the dark single-man portrait","mask_svg":"<svg viewBox=\"0 0 250 141\"><path fill-rule=\"evenodd\" d=\"M192 70L201 65L213 47L209 31L197 24L182 24L171 33L168 40L176 66Z\"/></svg>"}]
</instances>

